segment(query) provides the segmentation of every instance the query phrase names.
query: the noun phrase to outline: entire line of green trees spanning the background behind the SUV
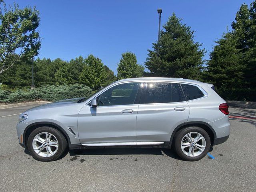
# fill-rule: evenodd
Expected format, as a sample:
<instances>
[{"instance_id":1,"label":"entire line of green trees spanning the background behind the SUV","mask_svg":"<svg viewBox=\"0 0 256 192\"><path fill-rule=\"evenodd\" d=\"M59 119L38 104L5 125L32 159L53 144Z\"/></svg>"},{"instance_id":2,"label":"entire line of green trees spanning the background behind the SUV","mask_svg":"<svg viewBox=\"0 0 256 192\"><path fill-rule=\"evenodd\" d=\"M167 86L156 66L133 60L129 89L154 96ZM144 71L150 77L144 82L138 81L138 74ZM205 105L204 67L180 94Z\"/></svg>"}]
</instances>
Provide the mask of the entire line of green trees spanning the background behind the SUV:
<instances>
[{"instance_id":1,"label":"entire line of green trees spanning the background behind the SUV","mask_svg":"<svg viewBox=\"0 0 256 192\"><path fill-rule=\"evenodd\" d=\"M10 10L10 12L14 11ZM28 59L32 58L31 55L38 54L40 38L36 32L39 22L38 11L28 8L26 12L25 24L28 26L25 26L30 29L28 31L34 33L32 33L34 41L28 42L34 42L34 44L37 42L37 44L28 43L25 46L28 54L22 53L19 56L14 51L13 56L9 56L9 58L4 55L6 54L5 48L8 48L8 36L7 40L4 38L5 29L8 28L6 22L8 12L0 15L2 21L0 38L1 41L5 41L4 43L0 41L0 68L3 68L4 65L5 70L0 74L0 82L3 84L30 86L33 62L36 86L82 83L92 90L98 90L100 87L122 78L160 76L188 78L212 83L224 99L256 100L255 1L250 6L246 4L240 6L234 17L234 22L232 22L232 29L215 41L213 50L209 53L209 60L203 60L206 50L202 48L202 43L194 40L195 32L191 27L184 24L182 18L172 14L163 25L159 41L153 42L152 49L148 50L148 57L144 62L147 71L144 71L143 65L137 63L134 53L125 52L118 63L117 76L102 63L100 58L92 54L86 58L79 56L69 62L60 58L55 60L38 58L34 61ZM24 15L24 12L16 14ZM31 25L28 21L31 21ZM15 20L13 22L15 24ZM10 26L10 28L12 27ZM28 31L22 35L26 36ZM20 45L17 44L17 47L20 50ZM10 67L13 58L18 59ZM6 70L7 67L10 68Z\"/></svg>"}]
</instances>

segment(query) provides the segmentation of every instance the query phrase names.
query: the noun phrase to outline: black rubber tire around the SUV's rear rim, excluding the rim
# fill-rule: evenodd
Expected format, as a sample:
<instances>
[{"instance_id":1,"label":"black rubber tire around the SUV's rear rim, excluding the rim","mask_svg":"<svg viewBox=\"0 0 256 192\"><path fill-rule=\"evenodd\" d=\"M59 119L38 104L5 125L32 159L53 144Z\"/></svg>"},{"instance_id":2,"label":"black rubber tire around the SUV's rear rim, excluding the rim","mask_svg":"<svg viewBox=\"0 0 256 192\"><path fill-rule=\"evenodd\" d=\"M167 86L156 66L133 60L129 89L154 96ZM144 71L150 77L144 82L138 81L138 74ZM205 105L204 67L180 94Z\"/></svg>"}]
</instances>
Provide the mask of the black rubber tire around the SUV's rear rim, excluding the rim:
<instances>
[{"instance_id":1,"label":"black rubber tire around the SUV's rear rim, excluding the rim","mask_svg":"<svg viewBox=\"0 0 256 192\"><path fill-rule=\"evenodd\" d=\"M204 151L202 152L202 154L195 156L195 157L191 157L191 156L184 154L184 152L182 151L182 148L180 146L180 144L182 142L182 138L190 132L200 133L205 138L205 141L206 141L206 147L205 147ZM198 160L202 159L209 152L210 146L211 146L211 140L210 140L208 133L200 127L194 127L194 126L186 127L186 128L179 130L174 135L174 149L175 149L176 153L178 154L178 156L180 156L180 158L182 158L183 160L186 160L186 161L198 161Z\"/></svg>"}]
</instances>

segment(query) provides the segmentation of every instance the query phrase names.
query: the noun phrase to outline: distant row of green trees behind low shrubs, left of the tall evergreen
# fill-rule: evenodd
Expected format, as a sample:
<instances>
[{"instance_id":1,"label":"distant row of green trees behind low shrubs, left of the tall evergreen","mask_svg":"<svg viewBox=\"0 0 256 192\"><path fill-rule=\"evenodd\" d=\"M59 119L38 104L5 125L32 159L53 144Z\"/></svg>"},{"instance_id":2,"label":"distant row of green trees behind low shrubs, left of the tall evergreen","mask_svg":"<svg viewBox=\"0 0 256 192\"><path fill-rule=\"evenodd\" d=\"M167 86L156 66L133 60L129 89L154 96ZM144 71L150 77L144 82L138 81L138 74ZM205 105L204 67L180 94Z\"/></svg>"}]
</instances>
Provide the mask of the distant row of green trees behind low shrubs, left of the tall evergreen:
<instances>
[{"instance_id":1,"label":"distant row of green trees behind low shrubs, left of the tall evergreen","mask_svg":"<svg viewBox=\"0 0 256 192\"><path fill-rule=\"evenodd\" d=\"M131 52L122 54L117 76L100 58L90 54L86 58L79 56L69 62L60 58L21 62L0 75L0 82L9 86L30 86L32 62L36 86L82 83L92 90L98 90L116 80L141 77L144 71L144 67L137 64L136 56Z\"/></svg>"}]
</instances>

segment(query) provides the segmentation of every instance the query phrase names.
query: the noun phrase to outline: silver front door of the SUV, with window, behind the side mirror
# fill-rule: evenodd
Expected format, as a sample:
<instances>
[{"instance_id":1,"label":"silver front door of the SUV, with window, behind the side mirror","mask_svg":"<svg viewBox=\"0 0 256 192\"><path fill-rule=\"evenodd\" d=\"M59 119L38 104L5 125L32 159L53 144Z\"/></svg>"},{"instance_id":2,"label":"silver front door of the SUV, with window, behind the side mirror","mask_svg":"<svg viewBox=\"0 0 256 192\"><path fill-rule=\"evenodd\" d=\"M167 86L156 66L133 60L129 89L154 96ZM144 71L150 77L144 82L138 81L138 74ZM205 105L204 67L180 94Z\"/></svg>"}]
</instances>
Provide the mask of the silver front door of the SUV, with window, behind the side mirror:
<instances>
[{"instance_id":1,"label":"silver front door of the SUV, with window, behind the side mirror","mask_svg":"<svg viewBox=\"0 0 256 192\"><path fill-rule=\"evenodd\" d=\"M97 107L84 105L78 114L80 142L136 142L141 83L116 84L96 96Z\"/></svg>"}]
</instances>

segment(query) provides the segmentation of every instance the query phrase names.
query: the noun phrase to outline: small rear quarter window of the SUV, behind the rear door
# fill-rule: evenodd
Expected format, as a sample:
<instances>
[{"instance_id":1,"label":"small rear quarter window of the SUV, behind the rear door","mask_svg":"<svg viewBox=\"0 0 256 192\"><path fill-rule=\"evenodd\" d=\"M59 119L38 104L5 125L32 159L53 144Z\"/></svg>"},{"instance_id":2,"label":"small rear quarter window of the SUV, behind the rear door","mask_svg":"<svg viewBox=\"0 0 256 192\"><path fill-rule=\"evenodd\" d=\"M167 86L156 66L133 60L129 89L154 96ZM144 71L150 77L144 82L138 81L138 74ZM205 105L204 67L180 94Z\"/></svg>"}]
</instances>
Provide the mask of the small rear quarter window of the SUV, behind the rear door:
<instances>
[{"instance_id":1,"label":"small rear quarter window of the SUV, behind the rear door","mask_svg":"<svg viewBox=\"0 0 256 192\"><path fill-rule=\"evenodd\" d=\"M194 85L181 84L181 87L184 91L186 100L198 99L204 96L204 93Z\"/></svg>"}]
</instances>

